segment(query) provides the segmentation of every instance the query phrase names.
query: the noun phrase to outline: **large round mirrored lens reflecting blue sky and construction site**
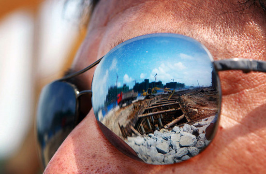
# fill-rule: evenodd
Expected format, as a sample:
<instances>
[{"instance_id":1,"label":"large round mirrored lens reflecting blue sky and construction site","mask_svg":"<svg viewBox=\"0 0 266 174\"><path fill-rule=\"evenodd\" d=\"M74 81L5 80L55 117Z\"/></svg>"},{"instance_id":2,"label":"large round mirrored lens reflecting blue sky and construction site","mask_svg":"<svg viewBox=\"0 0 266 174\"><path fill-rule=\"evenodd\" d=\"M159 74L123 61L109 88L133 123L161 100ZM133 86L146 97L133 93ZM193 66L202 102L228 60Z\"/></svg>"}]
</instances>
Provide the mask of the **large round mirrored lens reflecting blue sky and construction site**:
<instances>
[{"instance_id":1,"label":"large round mirrored lens reflecting blue sky and construction site","mask_svg":"<svg viewBox=\"0 0 266 174\"><path fill-rule=\"evenodd\" d=\"M211 61L201 43L182 35L121 43L95 71L95 116L147 163L188 160L210 143L218 126L221 92Z\"/></svg>"}]
</instances>

